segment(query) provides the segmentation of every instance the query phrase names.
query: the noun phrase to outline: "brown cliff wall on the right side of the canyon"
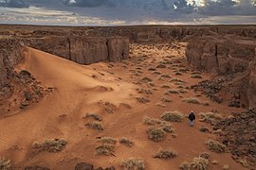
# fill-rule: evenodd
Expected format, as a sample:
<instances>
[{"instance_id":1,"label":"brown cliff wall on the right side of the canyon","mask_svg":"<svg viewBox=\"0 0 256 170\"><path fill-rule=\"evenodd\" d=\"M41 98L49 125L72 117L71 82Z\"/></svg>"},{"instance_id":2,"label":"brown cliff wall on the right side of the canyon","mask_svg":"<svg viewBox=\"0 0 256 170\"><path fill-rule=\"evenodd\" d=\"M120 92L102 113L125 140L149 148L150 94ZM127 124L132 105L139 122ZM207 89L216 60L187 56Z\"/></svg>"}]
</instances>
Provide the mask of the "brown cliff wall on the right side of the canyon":
<instances>
[{"instance_id":1,"label":"brown cliff wall on the right side of the canyon","mask_svg":"<svg viewBox=\"0 0 256 170\"><path fill-rule=\"evenodd\" d=\"M186 57L198 70L226 76L223 93L256 107L255 49L253 41L196 39L189 42Z\"/></svg>"}]
</instances>

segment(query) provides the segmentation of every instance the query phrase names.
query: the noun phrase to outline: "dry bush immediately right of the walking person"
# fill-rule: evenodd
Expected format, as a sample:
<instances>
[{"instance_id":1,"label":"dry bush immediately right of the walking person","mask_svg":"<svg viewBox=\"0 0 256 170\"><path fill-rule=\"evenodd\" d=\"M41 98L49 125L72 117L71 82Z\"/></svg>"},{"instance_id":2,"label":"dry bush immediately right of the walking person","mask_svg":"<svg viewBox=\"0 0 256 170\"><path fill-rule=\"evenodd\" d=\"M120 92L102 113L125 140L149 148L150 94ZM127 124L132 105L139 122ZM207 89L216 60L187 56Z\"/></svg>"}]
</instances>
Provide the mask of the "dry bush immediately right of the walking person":
<instances>
[{"instance_id":1,"label":"dry bush immediately right of the walking person","mask_svg":"<svg viewBox=\"0 0 256 170\"><path fill-rule=\"evenodd\" d=\"M216 125L223 119L222 115L214 112L200 112L199 121L206 122L212 126Z\"/></svg>"}]
</instances>

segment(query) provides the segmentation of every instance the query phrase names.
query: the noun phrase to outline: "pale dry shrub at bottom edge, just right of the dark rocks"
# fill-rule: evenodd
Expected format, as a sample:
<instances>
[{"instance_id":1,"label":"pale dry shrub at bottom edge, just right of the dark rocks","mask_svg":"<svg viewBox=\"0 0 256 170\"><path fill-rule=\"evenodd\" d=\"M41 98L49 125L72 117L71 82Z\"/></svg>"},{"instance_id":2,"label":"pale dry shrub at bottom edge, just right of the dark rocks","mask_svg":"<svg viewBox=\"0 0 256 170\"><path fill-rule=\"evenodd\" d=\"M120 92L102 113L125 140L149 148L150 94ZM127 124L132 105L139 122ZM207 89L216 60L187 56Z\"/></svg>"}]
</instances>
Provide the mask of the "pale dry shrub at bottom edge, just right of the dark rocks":
<instances>
[{"instance_id":1,"label":"pale dry shrub at bottom edge, just right of the dark rocks","mask_svg":"<svg viewBox=\"0 0 256 170\"><path fill-rule=\"evenodd\" d=\"M141 159L129 158L128 160L121 161L121 167L128 170L142 170L145 169L145 163Z\"/></svg>"}]
</instances>

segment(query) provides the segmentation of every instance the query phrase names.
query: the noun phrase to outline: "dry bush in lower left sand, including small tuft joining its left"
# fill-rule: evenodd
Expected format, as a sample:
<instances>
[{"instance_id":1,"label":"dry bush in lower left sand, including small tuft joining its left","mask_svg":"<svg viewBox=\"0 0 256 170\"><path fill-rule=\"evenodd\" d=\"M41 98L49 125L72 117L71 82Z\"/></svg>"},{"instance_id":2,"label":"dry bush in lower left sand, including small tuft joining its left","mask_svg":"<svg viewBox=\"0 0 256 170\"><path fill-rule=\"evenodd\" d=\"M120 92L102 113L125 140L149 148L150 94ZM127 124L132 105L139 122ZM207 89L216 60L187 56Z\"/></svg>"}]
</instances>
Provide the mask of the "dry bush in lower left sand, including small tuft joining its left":
<instances>
[{"instance_id":1,"label":"dry bush in lower left sand, including small tuft joining its left","mask_svg":"<svg viewBox=\"0 0 256 170\"><path fill-rule=\"evenodd\" d=\"M67 143L64 139L47 139L43 144L34 142L32 144L32 148L42 149L48 152L60 152L64 148L65 144Z\"/></svg>"}]
</instances>

